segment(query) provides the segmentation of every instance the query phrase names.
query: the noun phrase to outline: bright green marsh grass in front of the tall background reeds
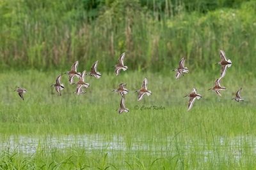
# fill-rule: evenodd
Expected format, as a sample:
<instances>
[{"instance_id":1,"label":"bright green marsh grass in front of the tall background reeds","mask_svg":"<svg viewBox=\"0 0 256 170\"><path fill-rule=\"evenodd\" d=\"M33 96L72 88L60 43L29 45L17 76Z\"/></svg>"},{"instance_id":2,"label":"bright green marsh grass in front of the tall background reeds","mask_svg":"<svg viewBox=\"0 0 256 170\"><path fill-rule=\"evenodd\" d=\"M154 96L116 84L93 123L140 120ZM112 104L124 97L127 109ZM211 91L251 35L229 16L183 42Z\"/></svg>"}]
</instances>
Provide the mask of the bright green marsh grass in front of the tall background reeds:
<instances>
[{"instance_id":1,"label":"bright green marsh grass in front of the tall background reeds","mask_svg":"<svg viewBox=\"0 0 256 170\"><path fill-rule=\"evenodd\" d=\"M222 97L207 91L214 85L215 73L193 70L179 80L175 80L172 71L161 74L128 70L120 76L102 73L99 80L86 76L91 87L82 96L73 93L76 87L68 84L67 75L62 78L63 96L51 89L60 71L1 73L0 133L5 145L1 148L0 166L3 169L252 169L255 78L236 73L233 67L221 81L227 87ZM138 102L134 90L140 88L144 77L148 78L148 89L153 94ZM127 83L130 90L125 97L130 111L122 115L116 111L120 96L111 92L120 82ZM15 85L28 90L24 101L13 92ZM183 96L193 87L203 98L188 112L188 98ZM243 87L244 103L231 101L239 87ZM137 105L163 106L164 110L135 110ZM84 147L74 144L64 148L58 142L47 143L47 139L61 141L70 135L76 143L84 134L96 141ZM19 150L29 138L39 140L33 154ZM115 138L120 139L118 147L124 146L125 150L111 148ZM102 143L102 148L86 148L97 142Z\"/></svg>"}]
</instances>

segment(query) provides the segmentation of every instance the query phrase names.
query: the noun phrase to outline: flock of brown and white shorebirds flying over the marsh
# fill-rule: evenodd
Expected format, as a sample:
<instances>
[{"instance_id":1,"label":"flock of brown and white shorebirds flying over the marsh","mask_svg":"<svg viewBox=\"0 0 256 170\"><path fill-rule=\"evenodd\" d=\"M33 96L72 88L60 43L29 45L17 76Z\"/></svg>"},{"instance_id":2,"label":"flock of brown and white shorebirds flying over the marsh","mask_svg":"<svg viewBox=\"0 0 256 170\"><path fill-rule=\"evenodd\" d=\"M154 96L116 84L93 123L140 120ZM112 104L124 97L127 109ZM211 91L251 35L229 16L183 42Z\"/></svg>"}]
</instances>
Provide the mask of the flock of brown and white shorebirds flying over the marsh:
<instances>
[{"instance_id":1,"label":"flock of brown and white shorebirds flying over the marsh","mask_svg":"<svg viewBox=\"0 0 256 170\"><path fill-rule=\"evenodd\" d=\"M124 57L125 57L125 53L122 53L118 59L118 63L115 64L115 66L114 66L116 76L118 76L118 74L120 74L121 70L125 71L128 69L127 66L124 66ZM227 58L225 56L225 52L223 52L223 50L220 50L220 57L221 57L221 60L220 60L220 62L217 63L221 66L220 78L217 78L217 80L215 81L214 87L212 87L211 89L208 89L208 90L213 90L219 96L221 96L220 91L226 89L225 87L221 87L220 81L225 76L227 67L230 67L232 65L231 60L229 60L229 59L227 60ZM78 64L79 64L78 61L74 62L74 64L71 67L71 70L67 71L66 73L61 73L56 78L56 83L51 85L51 87L55 87L56 92L58 92L58 94L60 96L61 96L61 90L65 89L63 83L61 83L61 76L63 74L68 74L68 80L71 85L74 85L74 84L77 85L76 90L74 91L77 95L86 93L83 89L90 87L90 84L85 82L84 76L90 75L97 79L100 78L101 74L99 71L97 71L98 60L95 63L93 63L92 69L89 73L86 73L86 71L83 71L83 73L77 72ZM185 57L183 57L180 60L179 67L177 67L176 69L173 69L173 71L176 72L175 78L180 78L180 76L184 76L184 73L189 73L188 67L185 67L184 64L185 64ZM79 78L79 81L77 81L77 83L74 83L75 76L77 78ZM126 86L125 83L120 83L118 89L115 89L112 91L112 92L118 92L118 94L120 94L120 96L121 96L120 108L118 108L118 113L123 113L123 112L129 111L129 109L125 108L125 95L129 92L129 90L127 90L125 88L125 86ZM143 83L141 85L141 89L135 91L135 92L138 92L138 101L141 101L141 99L143 99L143 96L145 96L145 95L150 96L152 94L152 92L150 90L148 90L147 86L148 86L148 80L147 80L147 78L144 78ZM244 101L240 96L241 90L242 90L242 88L240 88L236 92L236 96L233 98L237 102ZM27 92L26 89L18 87L14 91L18 92L21 99L24 100L23 94L25 94ZM187 94L184 97L189 97L189 103L188 103L188 111L189 111L192 108L193 104L195 103L195 100L200 99L202 96L196 92L195 88L193 88L191 93Z\"/></svg>"}]
</instances>

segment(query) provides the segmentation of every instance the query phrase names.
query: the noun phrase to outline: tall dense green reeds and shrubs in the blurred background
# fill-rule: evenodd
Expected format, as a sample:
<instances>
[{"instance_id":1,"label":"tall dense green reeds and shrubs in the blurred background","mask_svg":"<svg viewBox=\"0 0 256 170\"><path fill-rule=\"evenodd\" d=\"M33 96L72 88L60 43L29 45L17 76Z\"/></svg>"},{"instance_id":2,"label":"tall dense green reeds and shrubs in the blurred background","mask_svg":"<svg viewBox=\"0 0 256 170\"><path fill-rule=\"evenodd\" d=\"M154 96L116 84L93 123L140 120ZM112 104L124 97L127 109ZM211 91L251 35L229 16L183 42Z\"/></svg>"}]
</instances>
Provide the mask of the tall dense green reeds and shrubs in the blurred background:
<instances>
[{"instance_id":1,"label":"tall dense green reeds and shrubs in the blurred background","mask_svg":"<svg viewBox=\"0 0 256 170\"><path fill-rule=\"evenodd\" d=\"M153 2L153 3L152 3ZM253 69L255 1L0 1L2 67L108 71L121 52L131 69L164 71L182 56L211 69L222 48Z\"/></svg>"}]
</instances>

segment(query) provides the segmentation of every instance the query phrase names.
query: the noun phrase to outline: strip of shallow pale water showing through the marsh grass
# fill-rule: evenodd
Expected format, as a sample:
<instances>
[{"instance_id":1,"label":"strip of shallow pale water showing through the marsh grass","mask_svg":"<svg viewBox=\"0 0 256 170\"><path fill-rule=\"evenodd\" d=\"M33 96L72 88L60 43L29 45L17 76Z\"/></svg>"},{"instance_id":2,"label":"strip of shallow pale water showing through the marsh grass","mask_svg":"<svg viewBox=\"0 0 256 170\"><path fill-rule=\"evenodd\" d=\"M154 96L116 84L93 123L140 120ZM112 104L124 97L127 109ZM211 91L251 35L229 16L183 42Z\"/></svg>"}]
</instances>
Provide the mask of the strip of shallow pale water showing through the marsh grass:
<instances>
[{"instance_id":1,"label":"strip of shallow pale water showing through the marsh grass","mask_svg":"<svg viewBox=\"0 0 256 170\"><path fill-rule=\"evenodd\" d=\"M185 143L174 143L173 137L166 138L166 141L159 139L145 140L142 138L125 141L123 137L102 135L68 135L68 136L10 136L0 141L1 151L22 152L27 154L36 153L44 148L47 150L60 150L65 152L67 148L81 148L86 152L101 150L104 152L145 152L148 155L170 155L172 153L182 152L184 155L196 154L196 157L207 162L218 157L239 161L244 154L256 154L256 138L236 137L214 139L214 143L205 143L204 141L186 141ZM172 142L170 142L172 141Z\"/></svg>"}]
</instances>

